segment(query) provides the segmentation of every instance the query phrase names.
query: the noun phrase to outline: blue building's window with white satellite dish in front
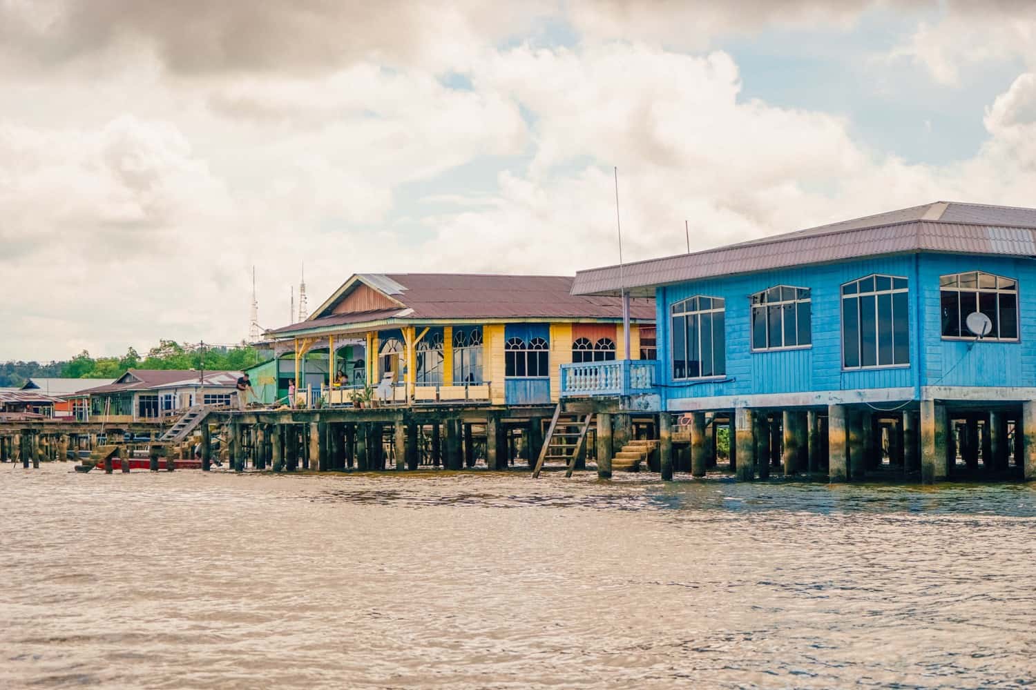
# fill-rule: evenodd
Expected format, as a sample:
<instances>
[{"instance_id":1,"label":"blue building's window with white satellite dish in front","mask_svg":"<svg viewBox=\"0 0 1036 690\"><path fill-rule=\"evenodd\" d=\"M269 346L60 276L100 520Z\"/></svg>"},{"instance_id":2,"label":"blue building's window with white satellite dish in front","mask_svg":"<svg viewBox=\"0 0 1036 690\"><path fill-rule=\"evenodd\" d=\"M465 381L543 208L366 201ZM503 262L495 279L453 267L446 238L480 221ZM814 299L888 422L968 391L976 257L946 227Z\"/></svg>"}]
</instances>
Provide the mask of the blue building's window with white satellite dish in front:
<instances>
[{"instance_id":1,"label":"blue building's window with white satellite dish in front","mask_svg":"<svg viewBox=\"0 0 1036 690\"><path fill-rule=\"evenodd\" d=\"M968 314L985 314L992 328L984 340L1018 339L1018 281L972 271L939 278L944 338L978 337L968 328Z\"/></svg>"}]
</instances>

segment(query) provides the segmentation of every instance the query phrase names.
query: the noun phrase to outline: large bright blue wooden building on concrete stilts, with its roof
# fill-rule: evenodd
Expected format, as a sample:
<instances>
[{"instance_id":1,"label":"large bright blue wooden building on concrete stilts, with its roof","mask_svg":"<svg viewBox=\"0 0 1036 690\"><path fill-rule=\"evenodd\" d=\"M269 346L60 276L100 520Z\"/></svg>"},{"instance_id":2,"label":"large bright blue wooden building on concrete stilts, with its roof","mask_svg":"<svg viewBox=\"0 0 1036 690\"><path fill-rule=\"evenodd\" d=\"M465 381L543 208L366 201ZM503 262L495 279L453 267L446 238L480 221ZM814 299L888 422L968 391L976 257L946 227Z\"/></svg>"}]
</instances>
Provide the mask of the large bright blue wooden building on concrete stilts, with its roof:
<instances>
[{"instance_id":1,"label":"large bright blue wooden building on concrete stilts, with its roof","mask_svg":"<svg viewBox=\"0 0 1036 690\"><path fill-rule=\"evenodd\" d=\"M1036 209L938 202L582 271L573 292L656 298L658 361L620 409L662 413L663 456L686 425L695 474L729 425L745 479L1036 478ZM593 366L563 396L598 396Z\"/></svg>"}]
</instances>

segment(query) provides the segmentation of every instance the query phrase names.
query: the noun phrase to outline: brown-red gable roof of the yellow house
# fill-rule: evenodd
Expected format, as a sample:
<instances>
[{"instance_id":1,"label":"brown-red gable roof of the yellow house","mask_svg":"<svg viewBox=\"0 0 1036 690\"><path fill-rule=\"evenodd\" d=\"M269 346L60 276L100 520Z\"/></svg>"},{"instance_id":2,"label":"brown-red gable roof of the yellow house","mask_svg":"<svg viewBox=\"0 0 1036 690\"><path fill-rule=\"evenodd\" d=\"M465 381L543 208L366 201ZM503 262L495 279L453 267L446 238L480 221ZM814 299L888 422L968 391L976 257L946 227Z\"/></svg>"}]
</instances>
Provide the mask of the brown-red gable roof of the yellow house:
<instances>
[{"instance_id":1,"label":"brown-red gable roof of the yellow house","mask_svg":"<svg viewBox=\"0 0 1036 690\"><path fill-rule=\"evenodd\" d=\"M307 321L275 335L326 328L405 321L623 318L617 297L572 294L572 276L449 273L359 273L351 276ZM377 291L398 308L334 313L358 286ZM633 300L630 317L654 321L654 299Z\"/></svg>"}]
</instances>

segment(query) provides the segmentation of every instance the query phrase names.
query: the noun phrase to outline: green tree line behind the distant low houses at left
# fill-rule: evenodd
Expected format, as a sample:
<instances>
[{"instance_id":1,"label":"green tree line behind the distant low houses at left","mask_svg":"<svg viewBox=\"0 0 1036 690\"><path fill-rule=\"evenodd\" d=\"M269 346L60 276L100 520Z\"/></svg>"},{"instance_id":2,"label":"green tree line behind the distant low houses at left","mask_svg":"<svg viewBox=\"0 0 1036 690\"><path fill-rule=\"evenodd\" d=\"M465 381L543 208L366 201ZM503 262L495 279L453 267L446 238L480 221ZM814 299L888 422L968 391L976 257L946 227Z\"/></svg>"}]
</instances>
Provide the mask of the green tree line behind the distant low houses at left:
<instances>
[{"instance_id":1,"label":"green tree line behind the distant low houses at left","mask_svg":"<svg viewBox=\"0 0 1036 690\"><path fill-rule=\"evenodd\" d=\"M91 357L84 350L70 360L56 362L5 362L0 364L0 388L18 387L32 377L63 379L115 379L130 368L201 369L207 371L241 369L258 364L265 356L247 344L234 347L179 343L160 340L143 357L134 349L122 357Z\"/></svg>"}]
</instances>

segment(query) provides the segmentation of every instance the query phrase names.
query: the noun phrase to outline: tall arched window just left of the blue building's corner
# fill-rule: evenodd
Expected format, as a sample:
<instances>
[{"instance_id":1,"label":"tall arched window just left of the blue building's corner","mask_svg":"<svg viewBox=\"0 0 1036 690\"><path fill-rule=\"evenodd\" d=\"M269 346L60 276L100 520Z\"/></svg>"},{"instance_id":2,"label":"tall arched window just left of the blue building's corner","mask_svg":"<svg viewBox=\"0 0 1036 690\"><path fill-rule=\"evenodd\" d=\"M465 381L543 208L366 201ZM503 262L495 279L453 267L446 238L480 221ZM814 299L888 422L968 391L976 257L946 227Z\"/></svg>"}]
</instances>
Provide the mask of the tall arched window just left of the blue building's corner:
<instances>
[{"instance_id":1,"label":"tall arched window just left of the blue building's corner","mask_svg":"<svg viewBox=\"0 0 1036 690\"><path fill-rule=\"evenodd\" d=\"M868 275L842 286L842 365L910 364L906 278Z\"/></svg>"}]
</instances>

